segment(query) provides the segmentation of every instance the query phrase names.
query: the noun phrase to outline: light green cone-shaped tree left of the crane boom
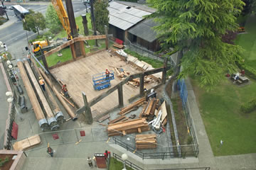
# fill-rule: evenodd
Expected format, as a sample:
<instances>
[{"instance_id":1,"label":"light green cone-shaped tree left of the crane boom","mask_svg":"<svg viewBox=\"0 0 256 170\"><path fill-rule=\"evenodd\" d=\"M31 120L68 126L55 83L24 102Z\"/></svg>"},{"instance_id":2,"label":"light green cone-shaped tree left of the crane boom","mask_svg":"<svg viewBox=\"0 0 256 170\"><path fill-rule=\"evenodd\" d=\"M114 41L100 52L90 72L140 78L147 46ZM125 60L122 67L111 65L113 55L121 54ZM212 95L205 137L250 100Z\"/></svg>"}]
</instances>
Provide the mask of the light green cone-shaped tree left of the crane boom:
<instances>
[{"instance_id":1,"label":"light green cone-shaped tree left of the crane boom","mask_svg":"<svg viewBox=\"0 0 256 170\"><path fill-rule=\"evenodd\" d=\"M49 28L52 33L58 33L62 28L58 14L52 4L46 10L46 28Z\"/></svg>"}]
</instances>

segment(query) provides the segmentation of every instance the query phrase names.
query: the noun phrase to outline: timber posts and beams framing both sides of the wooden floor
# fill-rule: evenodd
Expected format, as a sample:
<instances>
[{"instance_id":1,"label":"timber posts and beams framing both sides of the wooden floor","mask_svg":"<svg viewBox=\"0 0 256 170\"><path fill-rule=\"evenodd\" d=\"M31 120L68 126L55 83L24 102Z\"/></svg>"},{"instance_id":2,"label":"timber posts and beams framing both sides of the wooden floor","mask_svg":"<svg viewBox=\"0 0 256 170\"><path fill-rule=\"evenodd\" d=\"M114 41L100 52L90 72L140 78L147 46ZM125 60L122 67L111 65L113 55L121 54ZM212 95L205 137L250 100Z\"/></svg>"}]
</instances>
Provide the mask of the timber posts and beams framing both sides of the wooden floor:
<instances>
[{"instance_id":1,"label":"timber posts and beams framing both sides of the wooden floor","mask_svg":"<svg viewBox=\"0 0 256 170\"><path fill-rule=\"evenodd\" d=\"M84 40L99 40L99 39L105 39L106 50L108 50L108 37L107 37L107 35L90 35L90 36L86 36L86 37L73 38L72 40L69 40L68 42L65 42L63 45L60 45L60 46L54 48L53 50L50 50L49 52L46 52L42 57L43 64L45 65L46 69L48 70L48 69L53 69L55 67L59 67L63 64L68 64L68 63L73 62L75 60L80 60L83 57L87 57L87 55L85 54L83 41ZM81 50L82 56L76 56L75 55L75 45L74 45L75 42L80 42L80 50ZM49 57L53 53L58 52L59 50L62 50L63 48L68 47L68 46L70 46L70 49L71 49L71 52L72 52L72 55L73 55L73 60L70 60L68 62L63 62L63 63L57 64L57 65L49 68L48 64L46 62L46 57ZM99 50L99 51L102 51L102 50ZM121 55L118 55L113 50L111 50L111 51L112 51L113 55L117 55L117 57L119 57L121 60L126 60L124 57L122 57ZM114 108L124 107L123 85L127 84L127 82L131 81L132 79L139 78L139 81L141 82L139 84L139 94L137 96L134 96L133 98L144 96L144 77L145 76L148 76L148 75L151 75L151 74L156 74L158 72L163 72L162 77L161 77L161 84L165 84L165 82L166 82L166 71L167 71L167 69L169 69L167 67L167 62L168 62L167 58L165 58L163 67L160 67L160 68L157 68L157 69L146 70L146 71L143 71L143 72L139 72L137 74L129 75L128 77L126 77L125 79L120 81L119 84L117 84L117 85L113 86L112 88L110 88L109 90L105 91L100 96L96 96L95 98L92 98L92 100L89 101L89 102L87 101L87 96L85 95L85 92L81 91L82 98L83 98L83 101L84 101L85 105L82 106L81 108L79 108L77 110L77 113L78 114L84 113L85 118L87 119L87 123L91 124L92 123L92 112L91 112L90 107L94 106L96 103L101 101L106 96L112 94L112 92L114 92L115 90L117 90L117 93L118 93L118 103L119 104L118 104L118 106L116 106ZM154 86L154 88L156 88L158 86L159 86L159 84ZM112 109L114 109L114 108L112 108ZM102 115L104 115L104 113Z\"/></svg>"}]
</instances>

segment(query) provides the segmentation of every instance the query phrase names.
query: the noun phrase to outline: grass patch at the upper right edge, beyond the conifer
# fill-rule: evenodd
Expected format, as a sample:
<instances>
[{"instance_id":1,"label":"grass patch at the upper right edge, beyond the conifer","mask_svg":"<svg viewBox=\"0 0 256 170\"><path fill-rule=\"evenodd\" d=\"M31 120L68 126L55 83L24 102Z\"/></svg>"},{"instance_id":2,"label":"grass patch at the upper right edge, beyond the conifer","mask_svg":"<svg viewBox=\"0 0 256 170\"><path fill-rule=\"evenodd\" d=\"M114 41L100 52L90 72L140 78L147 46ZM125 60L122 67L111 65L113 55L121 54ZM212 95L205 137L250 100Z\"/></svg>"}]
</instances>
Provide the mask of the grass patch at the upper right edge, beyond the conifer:
<instances>
[{"instance_id":1,"label":"grass patch at the upper right edge, beyond the conifer","mask_svg":"<svg viewBox=\"0 0 256 170\"><path fill-rule=\"evenodd\" d=\"M245 64L256 69L256 16L249 16L245 21L245 32L239 34L235 40L236 45L245 49Z\"/></svg>"}]
</instances>

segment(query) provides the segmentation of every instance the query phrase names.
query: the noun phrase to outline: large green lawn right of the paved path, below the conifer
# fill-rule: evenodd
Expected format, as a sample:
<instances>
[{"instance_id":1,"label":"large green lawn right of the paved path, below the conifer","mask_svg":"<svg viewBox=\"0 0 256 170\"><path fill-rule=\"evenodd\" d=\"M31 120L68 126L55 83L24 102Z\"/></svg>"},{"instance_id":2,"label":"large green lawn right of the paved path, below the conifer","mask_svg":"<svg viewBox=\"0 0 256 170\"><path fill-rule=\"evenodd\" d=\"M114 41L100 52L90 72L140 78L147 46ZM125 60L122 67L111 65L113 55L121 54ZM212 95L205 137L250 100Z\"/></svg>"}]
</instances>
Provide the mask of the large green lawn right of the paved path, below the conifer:
<instances>
[{"instance_id":1,"label":"large green lawn right of the paved path, below the conifer","mask_svg":"<svg viewBox=\"0 0 256 170\"><path fill-rule=\"evenodd\" d=\"M241 113L240 106L256 97L256 81L240 87L227 79L210 92L192 83L214 155L255 153L256 111Z\"/></svg>"}]
</instances>

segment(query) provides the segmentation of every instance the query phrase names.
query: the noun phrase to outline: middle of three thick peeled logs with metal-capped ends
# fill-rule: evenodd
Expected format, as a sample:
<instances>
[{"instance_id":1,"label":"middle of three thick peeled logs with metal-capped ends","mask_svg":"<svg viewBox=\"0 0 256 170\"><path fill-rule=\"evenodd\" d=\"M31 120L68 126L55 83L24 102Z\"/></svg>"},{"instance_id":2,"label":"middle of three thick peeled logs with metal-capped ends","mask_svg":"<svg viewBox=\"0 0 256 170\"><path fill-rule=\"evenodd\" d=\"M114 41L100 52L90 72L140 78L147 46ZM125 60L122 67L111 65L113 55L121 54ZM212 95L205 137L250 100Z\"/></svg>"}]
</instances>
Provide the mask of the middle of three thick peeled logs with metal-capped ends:
<instances>
[{"instance_id":1,"label":"middle of three thick peeled logs with metal-capped ends","mask_svg":"<svg viewBox=\"0 0 256 170\"><path fill-rule=\"evenodd\" d=\"M53 115L53 111L51 111L50 109L50 105L48 103L48 101L46 100L46 96L43 95L43 91L41 89L41 86L38 84L38 80L36 79L35 75L33 74L33 71L28 63L28 61L24 62L26 69L28 71L29 77L31 77L31 81L33 82L33 86L36 89L36 93L38 94L42 104L43 104L43 108L46 111L46 116L47 116L47 120L48 120L48 124L50 125L50 127L52 128L52 130L55 130L56 128L58 128L58 123L57 120L55 118L55 116Z\"/></svg>"}]
</instances>

